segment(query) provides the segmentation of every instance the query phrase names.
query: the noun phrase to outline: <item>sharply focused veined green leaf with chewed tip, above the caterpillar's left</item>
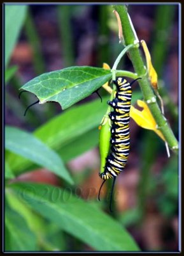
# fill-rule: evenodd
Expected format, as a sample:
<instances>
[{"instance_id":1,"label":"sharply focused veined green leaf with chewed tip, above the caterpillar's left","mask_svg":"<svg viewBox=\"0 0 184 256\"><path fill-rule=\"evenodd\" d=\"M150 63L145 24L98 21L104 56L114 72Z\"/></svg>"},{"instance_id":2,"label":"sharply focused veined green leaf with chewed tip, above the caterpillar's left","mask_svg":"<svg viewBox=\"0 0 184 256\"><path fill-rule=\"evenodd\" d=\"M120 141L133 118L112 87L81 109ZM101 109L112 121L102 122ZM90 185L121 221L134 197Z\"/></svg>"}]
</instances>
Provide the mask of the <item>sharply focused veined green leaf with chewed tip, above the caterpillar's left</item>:
<instances>
[{"instance_id":1,"label":"sharply focused veined green leaf with chewed tip, above the caterpillar's left","mask_svg":"<svg viewBox=\"0 0 184 256\"><path fill-rule=\"evenodd\" d=\"M95 67L69 67L35 77L22 89L32 92L39 103L59 102L62 109L88 97L111 78L111 70Z\"/></svg>"}]
</instances>

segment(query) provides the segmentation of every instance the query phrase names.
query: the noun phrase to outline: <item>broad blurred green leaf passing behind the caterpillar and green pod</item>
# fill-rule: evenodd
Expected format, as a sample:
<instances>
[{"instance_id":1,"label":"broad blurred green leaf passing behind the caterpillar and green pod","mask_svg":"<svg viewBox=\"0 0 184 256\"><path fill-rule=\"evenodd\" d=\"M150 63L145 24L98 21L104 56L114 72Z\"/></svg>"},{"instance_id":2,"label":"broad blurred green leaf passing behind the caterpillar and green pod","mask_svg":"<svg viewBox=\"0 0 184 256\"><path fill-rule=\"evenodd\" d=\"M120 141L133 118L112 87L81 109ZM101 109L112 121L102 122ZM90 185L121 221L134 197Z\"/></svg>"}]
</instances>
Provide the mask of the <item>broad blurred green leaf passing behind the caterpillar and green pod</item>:
<instances>
[{"instance_id":1,"label":"broad blurred green leaf passing behind the caterpillar and green pod","mask_svg":"<svg viewBox=\"0 0 184 256\"><path fill-rule=\"evenodd\" d=\"M141 93L133 93L132 104L140 98ZM34 135L57 150L65 162L69 161L99 143L98 126L106 112L108 99L109 97L104 97L103 103L97 99L81 106L74 106L41 125ZM22 172L32 164L31 161L15 154L9 154L8 161L15 173Z\"/></svg>"}]
</instances>

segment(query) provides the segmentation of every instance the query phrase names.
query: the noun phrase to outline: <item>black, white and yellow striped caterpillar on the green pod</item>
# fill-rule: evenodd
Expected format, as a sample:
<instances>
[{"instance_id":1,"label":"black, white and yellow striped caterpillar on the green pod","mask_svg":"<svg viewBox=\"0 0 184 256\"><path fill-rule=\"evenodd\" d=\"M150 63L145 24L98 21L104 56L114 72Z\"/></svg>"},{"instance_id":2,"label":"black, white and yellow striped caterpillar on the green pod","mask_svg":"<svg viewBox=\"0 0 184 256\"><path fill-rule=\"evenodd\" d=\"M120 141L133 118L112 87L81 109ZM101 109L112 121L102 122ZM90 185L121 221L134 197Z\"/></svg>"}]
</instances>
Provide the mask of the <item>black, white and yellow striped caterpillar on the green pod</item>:
<instances>
[{"instance_id":1,"label":"black, white and yellow striped caterpillar on the green pod","mask_svg":"<svg viewBox=\"0 0 184 256\"><path fill-rule=\"evenodd\" d=\"M117 93L115 99L113 99L112 101L108 100L107 102L108 105L110 105L114 109L109 113L109 117L111 120L111 152L106 157L105 165L102 166L103 168L101 168L99 176L101 177L101 179L104 180L101 184L101 188L106 180L113 179L113 186L110 196L110 211L115 180L118 174L122 172L122 170L124 170L127 163L127 158L129 156L129 113L131 109L132 98L131 85L138 79L135 79L131 83L128 83L124 77L117 77L117 79L113 81L113 83L117 86ZM99 195L101 192L101 188L99 189Z\"/></svg>"}]
</instances>

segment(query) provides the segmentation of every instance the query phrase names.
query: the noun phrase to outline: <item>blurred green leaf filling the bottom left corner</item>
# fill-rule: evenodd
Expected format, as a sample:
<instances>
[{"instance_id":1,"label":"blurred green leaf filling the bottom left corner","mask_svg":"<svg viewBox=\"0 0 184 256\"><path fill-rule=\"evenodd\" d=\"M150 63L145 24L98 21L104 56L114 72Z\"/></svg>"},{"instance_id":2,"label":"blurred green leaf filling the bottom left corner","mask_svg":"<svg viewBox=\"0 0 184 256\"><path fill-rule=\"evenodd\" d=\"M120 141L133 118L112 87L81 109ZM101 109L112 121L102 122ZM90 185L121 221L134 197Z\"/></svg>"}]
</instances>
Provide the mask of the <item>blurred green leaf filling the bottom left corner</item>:
<instances>
[{"instance_id":1,"label":"blurred green leaf filling the bottom left corner","mask_svg":"<svg viewBox=\"0 0 184 256\"><path fill-rule=\"evenodd\" d=\"M7 204L5 210L5 252L28 252L38 250L36 237L24 218Z\"/></svg>"}]
</instances>

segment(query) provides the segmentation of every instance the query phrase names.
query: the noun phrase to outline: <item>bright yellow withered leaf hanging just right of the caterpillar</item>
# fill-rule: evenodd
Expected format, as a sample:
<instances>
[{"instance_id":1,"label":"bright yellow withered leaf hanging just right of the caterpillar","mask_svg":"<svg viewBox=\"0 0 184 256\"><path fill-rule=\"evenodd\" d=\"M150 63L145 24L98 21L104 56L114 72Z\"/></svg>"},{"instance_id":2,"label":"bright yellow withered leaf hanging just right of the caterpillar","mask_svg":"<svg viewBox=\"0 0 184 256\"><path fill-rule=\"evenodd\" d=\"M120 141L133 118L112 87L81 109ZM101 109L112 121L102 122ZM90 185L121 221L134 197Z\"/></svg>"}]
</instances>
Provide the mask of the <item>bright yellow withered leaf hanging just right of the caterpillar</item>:
<instances>
[{"instance_id":1,"label":"bright yellow withered leaf hanging just right of the caterpillar","mask_svg":"<svg viewBox=\"0 0 184 256\"><path fill-rule=\"evenodd\" d=\"M130 116L134 119L134 121L141 126L142 128L152 130L157 133L157 135L160 136L160 138L164 141L165 138L162 135L162 132L160 132L157 129L157 124L155 122L155 119L152 116L152 113L150 112L150 109L148 108L148 105L143 100L138 100L138 106L143 108L143 110L138 110L134 108L134 106L131 106Z\"/></svg>"}]
</instances>

